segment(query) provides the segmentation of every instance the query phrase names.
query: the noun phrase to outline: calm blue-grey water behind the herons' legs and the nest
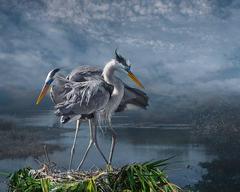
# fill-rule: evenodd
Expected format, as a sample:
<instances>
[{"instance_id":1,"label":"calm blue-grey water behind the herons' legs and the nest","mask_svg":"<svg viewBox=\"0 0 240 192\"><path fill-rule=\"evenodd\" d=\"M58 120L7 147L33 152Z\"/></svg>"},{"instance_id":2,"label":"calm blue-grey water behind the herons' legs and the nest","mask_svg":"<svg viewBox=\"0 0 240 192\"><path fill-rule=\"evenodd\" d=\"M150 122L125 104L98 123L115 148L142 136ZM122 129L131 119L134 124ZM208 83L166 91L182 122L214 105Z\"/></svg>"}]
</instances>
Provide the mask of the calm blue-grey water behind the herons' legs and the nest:
<instances>
[{"instance_id":1,"label":"calm blue-grey water behind the herons' legs and the nest","mask_svg":"<svg viewBox=\"0 0 240 192\"><path fill-rule=\"evenodd\" d=\"M116 117L124 118L126 117ZM116 119L115 118L115 119ZM56 122L52 113L43 113L31 118L21 118L19 123L27 125L46 126ZM119 121L118 121L119 122ZM77 140L76 153L73 168L77 167L84 150L88 144L88 124L83 123ZM74 124L67 125L69 129L74 128ZM117 145L113 158L114 166L121 166L131 162L143 162L148 160L159 160L175 156L167 170L170 179L180 186L195 184L206 170L199 166L200 162L208 162L214 159L204 145L197 145L191 142L191 127L162 124L150 122L134 125L132 123L115 123L114 129L117 132ZM73 132L63 134L59 139L47 141L65 146L64 151L55 151L50 154L51 161L57 163L59 168L67 168L69 162L70 149L74 136ZM98 133L99 144L103 152L108 155L111 137L107 132ZM43 159L40 157L39 159ZM92 148L83 169L104 167L104 161L99 153ZM26 159L4 159L0 160L0 171L12 172L19 168L31 166L37 168L38 165L32 157ZM1 190L6 187L1 183Z\"/></svg>"}]
</instances>

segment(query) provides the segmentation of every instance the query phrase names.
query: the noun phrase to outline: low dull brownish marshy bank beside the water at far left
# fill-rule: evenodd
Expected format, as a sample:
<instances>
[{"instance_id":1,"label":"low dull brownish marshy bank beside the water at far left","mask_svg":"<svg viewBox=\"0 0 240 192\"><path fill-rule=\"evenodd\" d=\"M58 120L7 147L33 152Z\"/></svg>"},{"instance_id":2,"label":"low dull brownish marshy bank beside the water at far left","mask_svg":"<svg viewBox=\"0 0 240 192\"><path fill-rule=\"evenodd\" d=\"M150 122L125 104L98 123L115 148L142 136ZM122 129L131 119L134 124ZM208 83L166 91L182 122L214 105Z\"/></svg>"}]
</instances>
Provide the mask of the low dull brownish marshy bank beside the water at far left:
<instances>
[{"instance_id":1,"label":"low dull brownish marshy bank beside the water at far left","mask_svg":"<svg viewBox=\"0 0 240 192\"><path fill-rule=\"evenodd\" d=\"M72 129L53 127L17 126L15 122L0 119L0 159L38 157L44 154L46 141L61 137ZM63 150L64 146L47 144L49 153Z\"/></svg>"}]
</instances>

